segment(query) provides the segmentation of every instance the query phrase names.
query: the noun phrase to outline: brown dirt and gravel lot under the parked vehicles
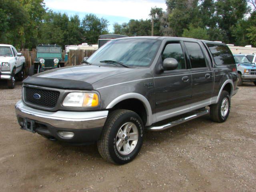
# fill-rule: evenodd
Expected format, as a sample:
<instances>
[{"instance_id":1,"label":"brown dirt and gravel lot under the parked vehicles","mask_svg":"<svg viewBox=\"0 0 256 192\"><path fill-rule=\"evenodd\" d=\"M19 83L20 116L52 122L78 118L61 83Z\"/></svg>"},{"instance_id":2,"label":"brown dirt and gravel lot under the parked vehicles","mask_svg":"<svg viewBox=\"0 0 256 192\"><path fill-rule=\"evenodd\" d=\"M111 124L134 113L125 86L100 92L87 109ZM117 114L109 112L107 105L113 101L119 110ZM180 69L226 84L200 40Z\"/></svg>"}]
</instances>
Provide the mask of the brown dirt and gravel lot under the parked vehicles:
<instances>
[{"instance_id":1,"label":"brown dirt and gravel lot under the parked vehicles","mask_svg":"<svg viewBox=\"0 0 256 192\"><path fill-rule=\"evenodd\" d=\"M14 90L0 82L0 191L256 191L256 86L244 84L228 120L209 116L147 132L137 158L105 162L96 145L69 146L20 130Z\"/></svg>"}]
</instances>

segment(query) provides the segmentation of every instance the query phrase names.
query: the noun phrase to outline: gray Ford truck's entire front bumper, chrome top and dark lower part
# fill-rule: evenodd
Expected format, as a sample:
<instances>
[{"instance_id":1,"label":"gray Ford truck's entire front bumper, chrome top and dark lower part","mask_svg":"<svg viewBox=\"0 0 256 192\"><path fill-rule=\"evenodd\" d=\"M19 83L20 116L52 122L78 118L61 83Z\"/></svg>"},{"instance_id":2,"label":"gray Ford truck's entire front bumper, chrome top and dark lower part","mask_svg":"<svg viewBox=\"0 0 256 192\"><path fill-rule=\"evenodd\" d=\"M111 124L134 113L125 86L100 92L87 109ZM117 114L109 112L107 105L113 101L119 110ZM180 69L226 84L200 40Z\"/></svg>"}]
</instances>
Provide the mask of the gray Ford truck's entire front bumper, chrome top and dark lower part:
<instances>
[{"instance_id":1,"label":"gray Ford truck's entire front bumper, chrome top and dark lower part","mask_svg":"<svg viewBox=\"0 0 256 192\"><path fill-rule=\"evenodd\" d=\"M67 142L92 142L99 139L108 111L57 111L48 112L31 108L22 100L15 105L18 123L24 128L24 119L34 121L34 130L38 134L54 137ZM73 132L72 138L63 138L59 131Z\"/></svg>"}]
</instances>

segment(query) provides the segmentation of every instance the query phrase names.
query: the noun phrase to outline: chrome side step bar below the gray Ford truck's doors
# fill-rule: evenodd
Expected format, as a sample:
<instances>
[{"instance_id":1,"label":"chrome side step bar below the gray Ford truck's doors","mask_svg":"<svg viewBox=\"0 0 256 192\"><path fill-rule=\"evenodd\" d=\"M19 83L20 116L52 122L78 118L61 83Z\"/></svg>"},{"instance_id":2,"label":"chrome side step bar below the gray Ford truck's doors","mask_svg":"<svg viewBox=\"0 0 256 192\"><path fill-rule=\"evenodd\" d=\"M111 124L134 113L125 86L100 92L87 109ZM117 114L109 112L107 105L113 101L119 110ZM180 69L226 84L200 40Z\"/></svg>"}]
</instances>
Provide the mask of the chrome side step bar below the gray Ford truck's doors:
<instances>
[{"instance_id":1,"label":"chrome side step bar below the gray Ford truck's doors","mask_svg":"<svg viewBox=\"0 0 256 192\"><path fill-rule=\"evenodd\" d=\"M162 131L162 130L171 128L173 126L176 126L178 124L182 124L182 123L187 122L189 120L192 120L192 119L198 118L200 116L206 115L209 112L210 111L208 109L200 110L200 111L197 111L196 114L190 115L188 117L184 117L184 118L172 121L170 123L167 123L167 124L164 124L164 125L161 125L161 126L149 126L147 129L150 130L150 131Z\"/></svg>"}]
</instances>

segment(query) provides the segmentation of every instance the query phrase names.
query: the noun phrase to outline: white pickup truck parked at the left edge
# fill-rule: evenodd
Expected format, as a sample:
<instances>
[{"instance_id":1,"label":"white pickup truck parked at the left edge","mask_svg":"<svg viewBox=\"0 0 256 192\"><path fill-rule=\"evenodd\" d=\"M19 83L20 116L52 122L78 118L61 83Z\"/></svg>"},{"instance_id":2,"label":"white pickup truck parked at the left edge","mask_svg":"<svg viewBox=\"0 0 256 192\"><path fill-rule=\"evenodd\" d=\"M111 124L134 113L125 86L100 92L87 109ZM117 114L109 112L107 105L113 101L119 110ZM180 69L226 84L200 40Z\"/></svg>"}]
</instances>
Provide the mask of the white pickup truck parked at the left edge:
<instances>
[{"instance_id":1,"label":"white pickup truck parked at the left edge","mask_svg":"<svg viewBox=\"0 0 256 192\"><path fill-rule=\"evenodd\" d=\"M24 70L25 57L14 46L0 44L0 79L7 80L8 88L14 88L15 76L23 80Z\"/></svg>"}]
</instances>

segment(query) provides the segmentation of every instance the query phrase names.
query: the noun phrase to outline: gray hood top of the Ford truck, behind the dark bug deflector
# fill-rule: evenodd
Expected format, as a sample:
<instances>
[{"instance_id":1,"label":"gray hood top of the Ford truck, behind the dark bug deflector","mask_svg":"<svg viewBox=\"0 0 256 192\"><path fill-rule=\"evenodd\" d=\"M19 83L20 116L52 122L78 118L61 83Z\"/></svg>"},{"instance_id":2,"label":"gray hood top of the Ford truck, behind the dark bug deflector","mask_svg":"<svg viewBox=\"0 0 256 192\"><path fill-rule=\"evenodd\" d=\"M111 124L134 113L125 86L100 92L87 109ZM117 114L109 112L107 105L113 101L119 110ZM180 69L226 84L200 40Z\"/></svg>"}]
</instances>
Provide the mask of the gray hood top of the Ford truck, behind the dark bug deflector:
<instances>
[{"instance_id":1,"label":"gray hood top of the Ford truck, behind the dark bug deflector","mask_svg":"<svg viewBox=\"0 0 256 192\"><path fill-rule=\"evenodd\" d=\"M93 84L116 74L136 70L112 66L80 65L48 70L33 77L76 80Z\"/></svg>"}]
</instances>

